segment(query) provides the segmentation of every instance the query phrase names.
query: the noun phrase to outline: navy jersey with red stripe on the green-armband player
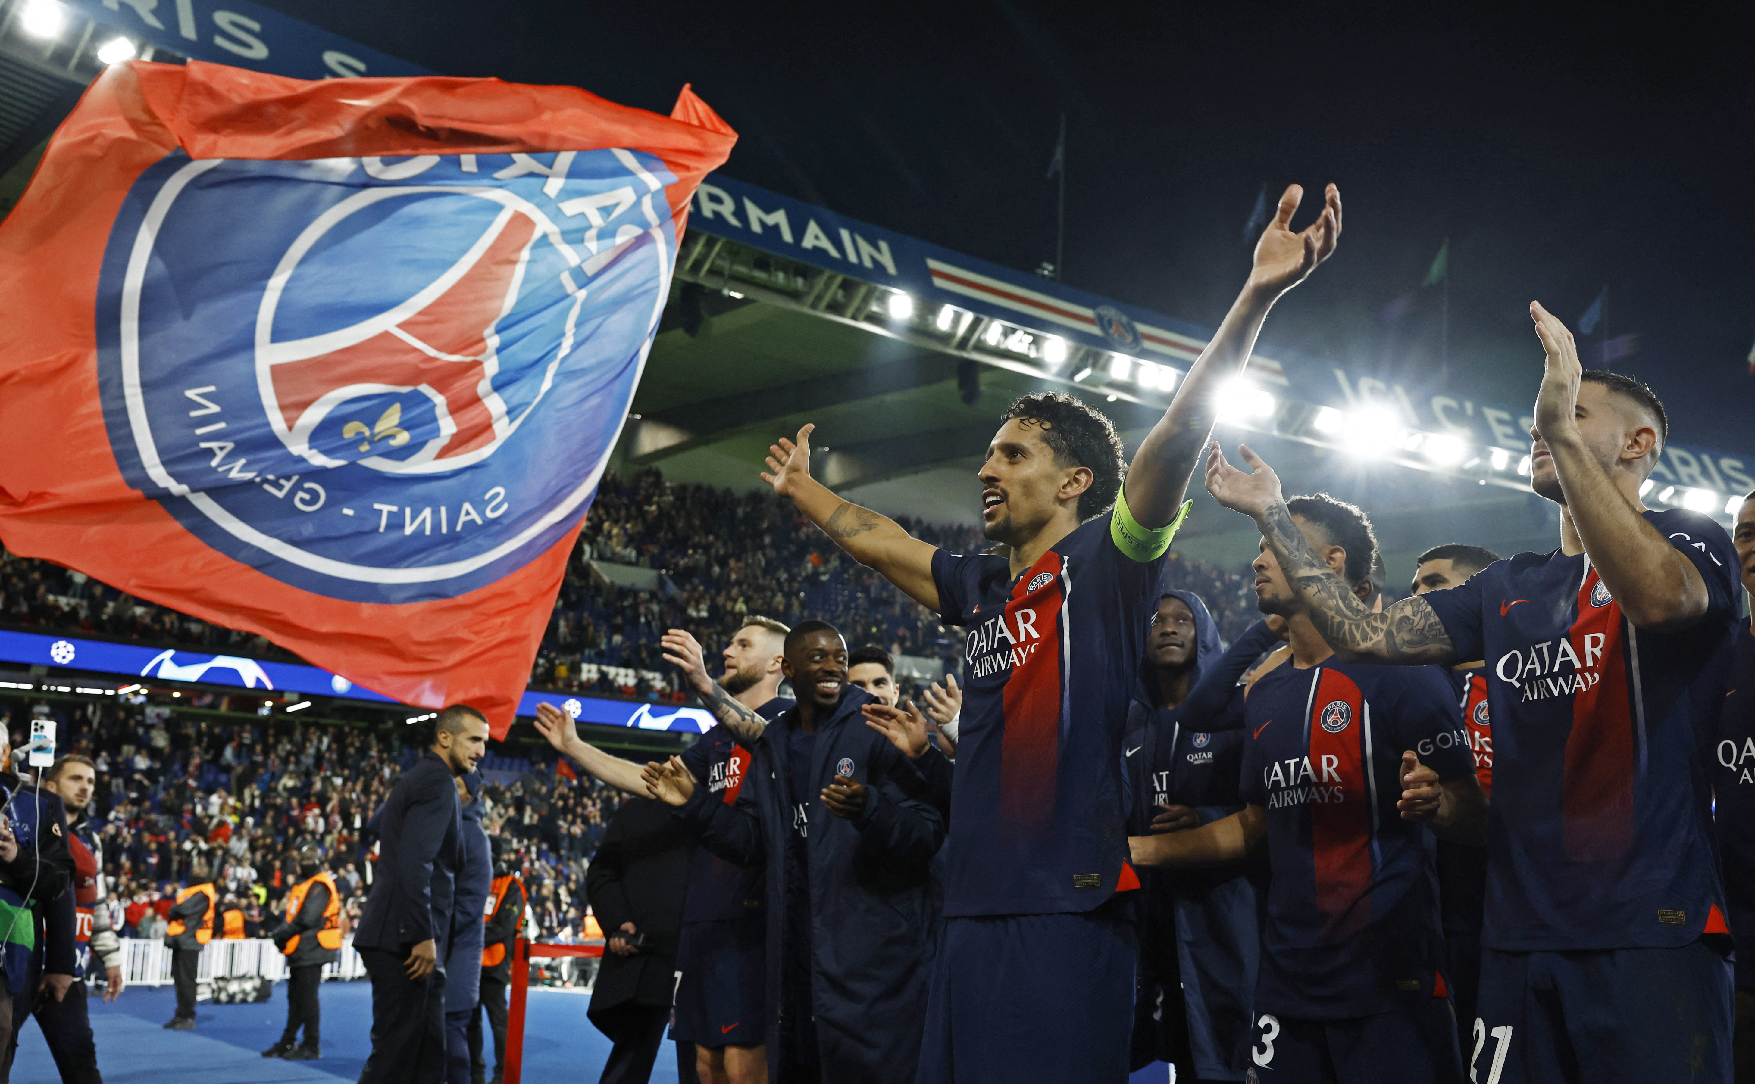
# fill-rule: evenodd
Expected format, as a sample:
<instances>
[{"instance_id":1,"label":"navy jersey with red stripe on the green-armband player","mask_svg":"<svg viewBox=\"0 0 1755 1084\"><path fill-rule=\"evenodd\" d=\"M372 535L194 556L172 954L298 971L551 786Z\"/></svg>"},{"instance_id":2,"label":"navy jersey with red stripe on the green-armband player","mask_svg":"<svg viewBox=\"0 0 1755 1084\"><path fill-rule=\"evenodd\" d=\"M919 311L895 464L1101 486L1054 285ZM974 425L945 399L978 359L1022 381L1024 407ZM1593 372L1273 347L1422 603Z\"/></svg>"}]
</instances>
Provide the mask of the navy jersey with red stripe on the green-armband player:
<instances>
[{"instance_id":1,"label":"navy jersey with red stripe on the green-armband player","mask_svg":"<svg viewBox=\"0 0 1755 1084\"><path fill-rule=\"evenodd\" d=\"M1085 523L1018 577L999 556L932 556L939 612L967 630L949 917L1083 912L1137 882L1121 735L1164 560L1125 556L1109 519Z\"/></svg>"}]
</instances>

